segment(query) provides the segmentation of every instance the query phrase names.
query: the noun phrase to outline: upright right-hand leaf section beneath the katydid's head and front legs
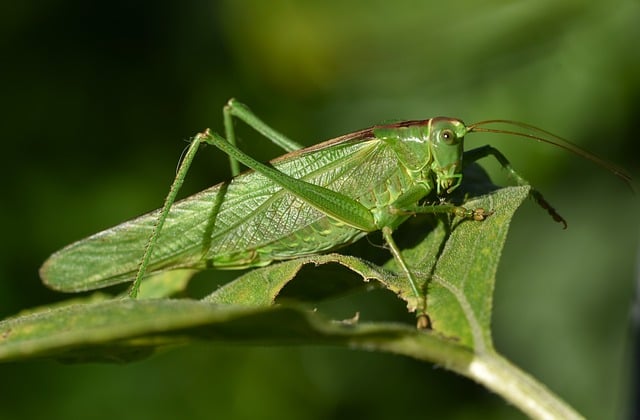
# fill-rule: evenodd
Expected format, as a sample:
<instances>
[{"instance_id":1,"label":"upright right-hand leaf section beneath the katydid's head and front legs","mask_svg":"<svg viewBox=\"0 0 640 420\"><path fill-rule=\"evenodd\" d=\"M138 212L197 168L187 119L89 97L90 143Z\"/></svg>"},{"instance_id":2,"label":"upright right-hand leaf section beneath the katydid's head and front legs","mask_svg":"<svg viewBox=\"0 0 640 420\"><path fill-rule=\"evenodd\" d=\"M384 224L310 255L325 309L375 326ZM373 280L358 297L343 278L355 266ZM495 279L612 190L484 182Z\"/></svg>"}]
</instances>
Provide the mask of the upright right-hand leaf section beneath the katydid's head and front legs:
<instances>
[{"instance_id":1,"label":"upright right-hand leaf section beneath the katydid's head and front legs","mask_svg":"<svg viewBox=\"0 0 640 420\"><path fill-rule=\"evenodd\" d=\"M527 198L528 187L509 187L468 201L468 208L495 209L482 223L453 222L451 233L441 245L435 268L425 275L428 283L427 310L433 328L455 337L477 351L491 344L491 309L495 274L509 223L516 209ZM438 232L448 228L439 225ZM425 240L408 255L411 265L433 263L433 241Z\"/></svg>"}]
</instances>

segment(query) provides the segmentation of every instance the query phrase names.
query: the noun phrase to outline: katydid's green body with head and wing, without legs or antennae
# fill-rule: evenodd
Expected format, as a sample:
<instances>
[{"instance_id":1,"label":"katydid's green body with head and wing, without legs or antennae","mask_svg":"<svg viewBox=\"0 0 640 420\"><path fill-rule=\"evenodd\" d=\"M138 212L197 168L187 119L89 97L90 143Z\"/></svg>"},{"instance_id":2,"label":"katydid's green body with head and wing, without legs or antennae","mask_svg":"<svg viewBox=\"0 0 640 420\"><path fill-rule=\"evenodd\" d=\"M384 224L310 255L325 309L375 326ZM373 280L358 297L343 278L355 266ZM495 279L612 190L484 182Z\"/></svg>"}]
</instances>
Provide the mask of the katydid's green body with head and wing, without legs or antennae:
<instances>
[{"instance_id":1,"label":"katydid's green body with head and wing, without legs or antennae","mask_svg":"<svg viewBox=\"0 0 640 420\"><path fill-rule=\"evenodd\" d=\"M390 212L394 203L409 198L415 204L434 185L450 189L461 179L462 136L440 140L430 135L444 130L450 136L448 127L458 123L431 119L404 124L408 126L352 133L272 161L293 178L360 202L373 215L376 225L372 229L359 229L327 216L262 174L248 171L171 206L147 273L263 266L330 251L383 226L395 229L408 215ZM416 151L421 154L419 159ZM434 159L436 153L441 157ZM444 167L448 167L446 172L442 172ZM438 173L441 175L436 176ZM69 245L45 263L43 279L65 291L133 280L159 215L156 210ZM71 287L65 286L69 279L74 280Z\"/></svg>"}]
</instances>

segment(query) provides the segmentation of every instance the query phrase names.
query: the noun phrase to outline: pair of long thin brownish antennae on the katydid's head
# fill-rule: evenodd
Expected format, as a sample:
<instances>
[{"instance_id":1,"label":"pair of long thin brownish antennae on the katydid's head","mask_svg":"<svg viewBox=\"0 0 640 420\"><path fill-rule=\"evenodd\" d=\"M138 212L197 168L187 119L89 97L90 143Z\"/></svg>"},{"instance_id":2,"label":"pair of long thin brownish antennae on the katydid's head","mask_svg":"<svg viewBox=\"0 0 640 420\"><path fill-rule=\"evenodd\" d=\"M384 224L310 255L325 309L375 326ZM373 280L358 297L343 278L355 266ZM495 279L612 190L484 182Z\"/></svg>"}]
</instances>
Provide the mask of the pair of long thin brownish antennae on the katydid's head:
<instances>
[{"instance_id":1,"label":"pair of long thin brownish antennae on the katydid's head","mask_svg":"<svg viewBox=\"0 0 640 420\"><path fill-rule=\"evenodd\" d=\"M507 126L515 127L515 129L501 129L501 128L493 128L487 127L487 125L494 124L502 124ZM522 130L522 131L520 131ZM552 144L554 146L560 147L561 149L565 149L574 153L580 157L588 159L595 163L598 166L601 166L611 172L614 175L621 178L623 181L627 183L627 185L633 189L631 185L631 176L627 174L624 170L618 168L611 162L607 162L606 160L599 158L598 156L587 152L586 150L578 147L574 143L570 142L567 139L564 139L560 136L557 136L549 131L543 130L531 124L519 122L519 121L511 121L511 120L486 120L480 121L475 124L471 124L466 128L467 133L501 133L501 134L511 134L514 136L524 137L536 141L541 141L543 143Z\"/></svg>"}]
</instances>

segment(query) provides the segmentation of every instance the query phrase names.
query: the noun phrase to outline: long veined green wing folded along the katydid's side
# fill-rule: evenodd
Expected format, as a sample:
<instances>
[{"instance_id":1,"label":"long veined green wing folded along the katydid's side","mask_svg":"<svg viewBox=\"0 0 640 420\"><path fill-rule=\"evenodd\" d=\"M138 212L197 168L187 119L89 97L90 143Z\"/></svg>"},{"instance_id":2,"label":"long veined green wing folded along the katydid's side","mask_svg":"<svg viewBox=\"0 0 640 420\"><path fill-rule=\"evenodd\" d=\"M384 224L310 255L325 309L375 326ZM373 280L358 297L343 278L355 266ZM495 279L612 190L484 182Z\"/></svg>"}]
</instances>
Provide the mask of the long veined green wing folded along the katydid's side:
<instances>
[{"instance_id":1,"label":"long veined green wing folded along the katydid's side","mask_svg":"<svg viewBox=\"0 0 640 420\"><path fill-rule=\"evenodd\" d=\"M273 164L369 208L386 199L380 195L401 172L393 152L372 138L326 142ZM133 280L158 214L153 211L56 252L40 269L43 281L54 289L82 291ZM174 203L148 273L266 265L334 249L365 234L249 171Z\"/></svg>"}]
</instances>

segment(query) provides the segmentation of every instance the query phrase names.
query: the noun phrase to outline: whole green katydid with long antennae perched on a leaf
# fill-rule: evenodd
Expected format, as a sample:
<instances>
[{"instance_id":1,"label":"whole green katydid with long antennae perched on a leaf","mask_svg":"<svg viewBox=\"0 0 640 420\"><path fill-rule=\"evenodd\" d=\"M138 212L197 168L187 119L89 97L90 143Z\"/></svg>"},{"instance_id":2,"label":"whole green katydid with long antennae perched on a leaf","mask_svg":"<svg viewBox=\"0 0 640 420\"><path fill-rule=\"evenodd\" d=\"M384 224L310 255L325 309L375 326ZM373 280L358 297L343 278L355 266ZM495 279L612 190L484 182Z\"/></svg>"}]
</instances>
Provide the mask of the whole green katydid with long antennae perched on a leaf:
<instances>
[{"instance_id":1,"label":"whole green katydid with long antennae perched on a leaf","mask_svg":"<svg viewBox=\"0 0 640 420\"><path fill-rule=\"evenodd\" d=\"M425 293L418 290L392 232L417 213L451 213L482 220L490 212L448 203L424 205L445 197L462 181L465 162L494 156L516 183L528 185L498 150L483 146L463 151L467 133L494 132L551 143L587 157L630 178L607 162L536 127L506 120L466 126L437 117L378 125L308 148L289 140L230 100L223 111L226 139L209 130L195 136L178 168L164 206L53 254L40 269L43 281L61 291L84 291L133 281L136 297L147 274L176 268L241 269L334 250L380 230L418 302L419 325L426 326ZM238 118L286 150L270 164L235 146ZM512 131L486 127L515 125ZM180 201L176 197L201 144L230 158L233 179ZM238 162L250 171L240 174ZM532 189L532 197L551 216L566 222Z\"/></svg>"}]
</instances>

